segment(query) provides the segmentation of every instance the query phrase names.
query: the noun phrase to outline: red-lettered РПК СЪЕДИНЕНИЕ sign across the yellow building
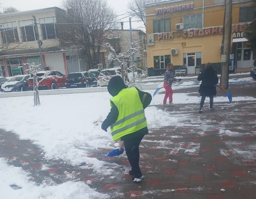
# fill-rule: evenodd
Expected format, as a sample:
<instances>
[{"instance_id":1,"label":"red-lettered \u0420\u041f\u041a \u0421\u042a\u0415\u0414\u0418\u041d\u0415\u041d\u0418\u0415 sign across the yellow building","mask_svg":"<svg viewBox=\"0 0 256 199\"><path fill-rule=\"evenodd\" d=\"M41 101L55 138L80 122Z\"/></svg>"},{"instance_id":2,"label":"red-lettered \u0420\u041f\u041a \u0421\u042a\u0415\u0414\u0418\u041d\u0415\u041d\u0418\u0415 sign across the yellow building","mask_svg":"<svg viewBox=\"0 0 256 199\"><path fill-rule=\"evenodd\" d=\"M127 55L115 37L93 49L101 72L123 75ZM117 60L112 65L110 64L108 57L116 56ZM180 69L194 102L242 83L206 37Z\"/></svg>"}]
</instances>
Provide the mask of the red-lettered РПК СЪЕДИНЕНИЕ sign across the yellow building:
<instances>
[{"instance_id":1,"label":"red-lettered \u0420\u041f\u041a \u0421\u042a\u0415\u0414\u0418\u041d\u0415\u041d\u0418\u0415 sign across the yellow building","mask_svg":"<svg viewBox=\"0 0 256 199\"><path fill-rule=\"evenodd\" d=\"M232 25L232 37L243 37L244 36L244 24L239 25ZM189 38L189 37L200 37L200 36L207 36L207 35L217 35L223 33L223 26L217 26L217 27L208 27L208 28L201 28L201 29L191 29L191 30L185 30L183 33L177 33L177 36L180 37L180 35L183 36L183 38ZM158 34L158 40L166 40L166 39L173 39L174 38L174 32L170 33L159 33Z\"/></svg>"}]
</instances>

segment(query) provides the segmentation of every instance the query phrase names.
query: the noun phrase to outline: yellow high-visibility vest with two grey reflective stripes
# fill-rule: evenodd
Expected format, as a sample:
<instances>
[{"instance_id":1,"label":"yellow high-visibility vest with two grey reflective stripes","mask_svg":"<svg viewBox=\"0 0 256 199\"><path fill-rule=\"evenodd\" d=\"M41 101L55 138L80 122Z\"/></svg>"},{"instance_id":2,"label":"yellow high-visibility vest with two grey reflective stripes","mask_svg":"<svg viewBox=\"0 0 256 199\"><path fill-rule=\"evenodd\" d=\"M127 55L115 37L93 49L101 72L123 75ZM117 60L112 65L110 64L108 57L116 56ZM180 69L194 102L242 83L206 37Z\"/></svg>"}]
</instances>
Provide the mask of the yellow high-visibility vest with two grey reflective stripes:
<instances>
[{"instance_id":1,"label":"yellow high-visibility vest with two grey reflective stripes","mask_svg":"<svg viewBox=\"0 0 256 199\"><path fill-rule=\"evenodd\" d=\"M116 122L110 126L114 141L147 126L143 105L136 88L122 89L110 100L119 112ZM110 105L112 107L111 103Z\"/></svg>"}]
</instances>

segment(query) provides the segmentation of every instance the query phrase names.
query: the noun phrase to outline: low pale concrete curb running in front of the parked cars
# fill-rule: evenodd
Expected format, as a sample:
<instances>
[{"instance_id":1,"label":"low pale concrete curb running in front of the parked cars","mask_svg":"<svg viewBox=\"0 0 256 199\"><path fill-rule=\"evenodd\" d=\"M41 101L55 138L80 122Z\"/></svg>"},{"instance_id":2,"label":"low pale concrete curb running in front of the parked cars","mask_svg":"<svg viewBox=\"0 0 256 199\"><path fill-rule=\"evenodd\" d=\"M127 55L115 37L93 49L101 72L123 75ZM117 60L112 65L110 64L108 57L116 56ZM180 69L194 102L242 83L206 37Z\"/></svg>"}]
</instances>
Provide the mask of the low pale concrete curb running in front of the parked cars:
<instances>
[{"instance_id":1,"label":"low pale concrete curb running in front of the parked cars","mask_svg":"<svg viewBox=\"0 0 256 199\"><path fill-rule=\"evenodd\" d=\"M155 90L157 85L140 85L137 86L141 90ZM73 94L73 93L87 93L87 92L108 92L107 87L92 87L92 88L67 88L57 90L42 90L39 91L39 95L58 95L58 94ZM33 91L25 92L0 92L0 98L6 97L21 97L21 96L33 96Z\"/></svg>"}]
</instances>

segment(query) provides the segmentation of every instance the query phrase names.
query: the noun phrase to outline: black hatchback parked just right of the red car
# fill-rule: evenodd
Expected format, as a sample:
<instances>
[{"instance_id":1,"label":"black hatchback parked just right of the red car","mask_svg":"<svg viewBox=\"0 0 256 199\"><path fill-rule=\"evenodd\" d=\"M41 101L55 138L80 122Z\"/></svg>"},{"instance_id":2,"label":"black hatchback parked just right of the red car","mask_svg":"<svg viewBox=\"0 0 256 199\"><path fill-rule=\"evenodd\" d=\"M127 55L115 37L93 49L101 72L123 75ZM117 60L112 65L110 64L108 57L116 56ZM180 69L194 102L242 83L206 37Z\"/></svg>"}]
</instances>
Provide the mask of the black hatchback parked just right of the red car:
<instances>
[{"instance_id":1,"label":"black hatchback parked just right of the red car","mask_svg":"<svg viewBox=\"0 0 256 199\"><path fill-rule=\"evenodd\" d=\"M97 78L90 72L69 73L66 80L66 88L89 88L97 86Z\"/></svg>"}]
</instances>

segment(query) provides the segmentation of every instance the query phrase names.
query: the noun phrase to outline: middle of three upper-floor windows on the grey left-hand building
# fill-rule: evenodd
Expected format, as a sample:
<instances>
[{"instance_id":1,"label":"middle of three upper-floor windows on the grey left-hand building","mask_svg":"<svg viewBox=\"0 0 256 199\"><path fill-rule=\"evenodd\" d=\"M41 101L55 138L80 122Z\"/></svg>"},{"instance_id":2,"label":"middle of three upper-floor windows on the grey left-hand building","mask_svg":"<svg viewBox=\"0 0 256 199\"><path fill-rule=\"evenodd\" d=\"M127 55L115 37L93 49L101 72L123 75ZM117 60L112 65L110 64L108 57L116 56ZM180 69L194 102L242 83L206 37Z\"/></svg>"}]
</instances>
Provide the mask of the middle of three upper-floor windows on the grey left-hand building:
<instances>
[{"instance_id":1,"label":"middle of three upper-floor windows on the grey left-hand building","mask_svg":"<svg viewBox=\"0 0 256 199\"><path fill-rule=\"evenodd\" d=\"M34 20L19 21L22 41L36 41Z\"/></svg>"}]
</instances>

